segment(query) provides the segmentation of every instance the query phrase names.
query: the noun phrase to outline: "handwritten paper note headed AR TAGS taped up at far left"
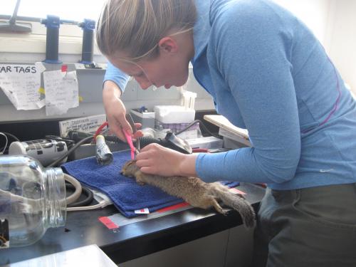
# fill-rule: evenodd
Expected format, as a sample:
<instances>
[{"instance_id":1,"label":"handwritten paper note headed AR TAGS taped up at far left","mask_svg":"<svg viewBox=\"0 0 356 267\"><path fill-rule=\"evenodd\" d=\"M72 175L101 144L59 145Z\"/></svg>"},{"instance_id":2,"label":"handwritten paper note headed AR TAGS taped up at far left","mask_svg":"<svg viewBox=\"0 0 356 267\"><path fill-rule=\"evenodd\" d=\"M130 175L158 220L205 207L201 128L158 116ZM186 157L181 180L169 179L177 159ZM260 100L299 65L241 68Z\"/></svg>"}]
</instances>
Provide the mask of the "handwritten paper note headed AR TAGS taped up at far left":
<instances>
[{"instance_id":1,"label":"handwritten paper note headed AR TAGS taped up at far left","mask_svg":"<svg viewBox=\"0 0 356 267\"><path fill-rule=\"evenodd\" d=\"M33 65L0 64L0 88L17 110L37 110L45 105L41 71Z\"/></svg>"}]
</instances>

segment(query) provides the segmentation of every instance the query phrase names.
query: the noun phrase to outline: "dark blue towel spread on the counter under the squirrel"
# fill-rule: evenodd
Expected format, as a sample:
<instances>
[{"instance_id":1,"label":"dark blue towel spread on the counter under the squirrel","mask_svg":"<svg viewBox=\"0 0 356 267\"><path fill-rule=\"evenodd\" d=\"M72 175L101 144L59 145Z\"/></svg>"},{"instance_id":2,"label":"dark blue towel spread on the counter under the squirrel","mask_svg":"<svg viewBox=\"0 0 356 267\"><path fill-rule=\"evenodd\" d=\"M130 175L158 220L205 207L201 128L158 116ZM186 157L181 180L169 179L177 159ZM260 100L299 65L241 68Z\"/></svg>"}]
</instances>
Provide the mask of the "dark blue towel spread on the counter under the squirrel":
<instances>
[{"instance_id":1,"label":"dark blue towel spread on the counter under the squirrel","mask_svg":"<svg viewBox=\"0 0 356 267\"><path fill-rule=\"evenodd\" d=\"M113 153L110 165L100 166L95 157L78 159L62 164L63 171L72 175L86 186L98 189L110 197L116 208L129 218L140 215L135 210L148 208L150 212L181 203L183 200L172 197L157 187L141 186L135 179L120 174L122 166L129 160L130 151ZM238 182L225 182L236 187Z\"/></svg>"}]
</instances>

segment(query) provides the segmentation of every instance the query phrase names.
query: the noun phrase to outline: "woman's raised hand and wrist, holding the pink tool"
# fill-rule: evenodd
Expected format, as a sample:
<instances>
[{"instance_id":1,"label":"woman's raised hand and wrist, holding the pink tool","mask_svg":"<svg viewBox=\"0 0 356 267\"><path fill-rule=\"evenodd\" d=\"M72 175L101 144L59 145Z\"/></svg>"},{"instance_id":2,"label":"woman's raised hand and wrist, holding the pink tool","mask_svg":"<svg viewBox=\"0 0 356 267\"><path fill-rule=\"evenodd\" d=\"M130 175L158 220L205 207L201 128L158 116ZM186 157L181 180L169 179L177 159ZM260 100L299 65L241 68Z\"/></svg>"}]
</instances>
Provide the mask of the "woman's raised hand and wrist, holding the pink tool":
<instances>
[{"instance_id":1,"label":"woman's raised hand and wrist, holding the pink tool","mask_svg":"<svg viewBox=\"0 0 356 267\"><path fill-rule=\"evenodd\" d=\"M110 132L119 137L123 142L126 142L125 134L122 130L126 130L132 134L132 129L130 123L126 120L126 108L124 103L120 100L120 96L121 90L116 83L111 80L105 80L103 88L103 103ZM138 123L136 126L140 127L140 124ZM135 132L134 138L140 136L142 136L141 131Z\"/></svg>"}]
</instances>

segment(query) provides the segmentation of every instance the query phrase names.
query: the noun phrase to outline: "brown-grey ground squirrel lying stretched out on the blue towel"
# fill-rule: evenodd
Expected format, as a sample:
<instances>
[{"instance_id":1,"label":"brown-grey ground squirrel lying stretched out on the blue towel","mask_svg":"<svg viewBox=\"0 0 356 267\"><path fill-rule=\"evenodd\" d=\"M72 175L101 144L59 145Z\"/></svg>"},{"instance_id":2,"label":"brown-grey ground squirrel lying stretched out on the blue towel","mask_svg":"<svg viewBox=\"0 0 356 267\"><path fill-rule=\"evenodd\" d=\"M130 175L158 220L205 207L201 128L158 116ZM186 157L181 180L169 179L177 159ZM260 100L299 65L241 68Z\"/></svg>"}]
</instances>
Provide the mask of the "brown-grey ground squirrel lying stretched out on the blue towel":
<instances>
[{"instance_id":1,"label":"brown-grey ground squirrel lying stretched out on the blue towel","mask_svg":"<svg viewBox=\"0 0 356 267\"><path fill-rule=\"evenodd\" d=\"M239 211L246 228L252 228L256 224L255 211L251 204L241 194L233 194L220 182L206 183L198 177L162 177L159 175L145 174L137 167L135 160L129 160L122 167L123 175L135 177L137 184L150 184L159 187L167 194L179 197L190 205L201 209L209 209L214 206L216 211L226 214L218 203L222 201L226 206Z\"/></svg>"}]
</instances>

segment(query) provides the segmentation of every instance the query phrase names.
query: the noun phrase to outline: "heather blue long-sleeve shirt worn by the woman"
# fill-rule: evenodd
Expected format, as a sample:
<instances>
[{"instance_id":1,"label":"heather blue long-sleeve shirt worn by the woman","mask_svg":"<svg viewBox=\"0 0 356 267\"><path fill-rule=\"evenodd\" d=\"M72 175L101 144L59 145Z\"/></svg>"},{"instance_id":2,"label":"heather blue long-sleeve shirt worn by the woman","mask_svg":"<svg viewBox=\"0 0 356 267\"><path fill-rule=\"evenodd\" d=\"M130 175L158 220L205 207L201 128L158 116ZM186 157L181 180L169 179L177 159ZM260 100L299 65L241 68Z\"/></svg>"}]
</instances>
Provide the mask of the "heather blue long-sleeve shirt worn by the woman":
<instances>
[{"instance_id":1,"label":"heather blue long-sleeve shirt worn by the woman","mask_svg":"<svg viewBox=\"0 0 356 267\"><path fill-rule=\"evenodd\" d=\"M199 154L206 182L298 189L356 182L356 105L323 47L265 0L196 0L194 75L252 147Z\"/></svg>"}]
</instances>

